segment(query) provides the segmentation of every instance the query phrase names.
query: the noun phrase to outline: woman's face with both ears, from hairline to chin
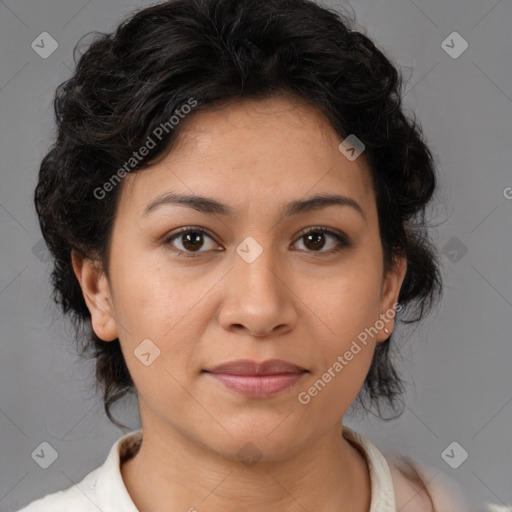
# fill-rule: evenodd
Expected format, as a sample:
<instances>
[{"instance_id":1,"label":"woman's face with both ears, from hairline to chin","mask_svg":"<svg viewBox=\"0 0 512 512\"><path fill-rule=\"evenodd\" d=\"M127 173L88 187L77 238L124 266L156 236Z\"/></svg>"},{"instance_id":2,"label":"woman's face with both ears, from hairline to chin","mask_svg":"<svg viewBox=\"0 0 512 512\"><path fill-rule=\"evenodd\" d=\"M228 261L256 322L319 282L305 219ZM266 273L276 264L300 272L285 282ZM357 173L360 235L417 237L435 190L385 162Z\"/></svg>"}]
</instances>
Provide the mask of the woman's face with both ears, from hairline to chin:
<instances>
[{"instance_id":1,"label":"woman's face with both ears, from hairline to chin","mask_svg":"<svg viewBox=\"0 0 512 512\"><path fill-rule=\"evenodd\" d=\"M163 161L124 179L110 279L88 260L75 270L96 334L120 340L144 429L284 457L339 426L389 336L377 321L393 316L405 262L383 276L364 154L347 159L311 107L243 101L181 123ZM334 195L348 201L311 201ZM207 371L241 359L305 371Z\"/></svg>"}]
</instances>

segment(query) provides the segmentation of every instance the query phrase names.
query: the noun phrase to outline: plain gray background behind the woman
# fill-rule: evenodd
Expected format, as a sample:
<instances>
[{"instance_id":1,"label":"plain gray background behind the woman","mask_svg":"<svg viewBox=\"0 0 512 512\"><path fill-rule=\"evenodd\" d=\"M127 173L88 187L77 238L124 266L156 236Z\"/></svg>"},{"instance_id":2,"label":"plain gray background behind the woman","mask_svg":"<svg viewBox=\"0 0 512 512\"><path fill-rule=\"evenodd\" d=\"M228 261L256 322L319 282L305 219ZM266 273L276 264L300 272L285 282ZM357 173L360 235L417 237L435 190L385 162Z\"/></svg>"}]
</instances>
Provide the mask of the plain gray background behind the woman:
<instances>
[{"instance_id":1,"label":"plain gray background behind the woman","mask_svg":"<svg viewBox=\"0 0 512 512\"><path fill-rule=\"evenodd\" d=\"M0 2L1 511L79 481L123 434L106 419L90 386L93 365L77 358L73 331L53 307L32 194L52 142L53 92L70 76L74 44L148 4ZM512 4L354 0L352 8L360 28L403 67L404 104L436 154L441 194L433 237L444 253L445 295L422 328L401 330L404 414L347 424L384 453L449 475L473 503L512 507ZM31 48L44 31L58 42L46 59ZM453 31L469 44L458 58L442 47ZM133 398L116 412L139 428ZM48 469L31 456L43 441L58 452ZM469 453L457 469L441 457L453 441Z\"/></svg>"}]
</instances>

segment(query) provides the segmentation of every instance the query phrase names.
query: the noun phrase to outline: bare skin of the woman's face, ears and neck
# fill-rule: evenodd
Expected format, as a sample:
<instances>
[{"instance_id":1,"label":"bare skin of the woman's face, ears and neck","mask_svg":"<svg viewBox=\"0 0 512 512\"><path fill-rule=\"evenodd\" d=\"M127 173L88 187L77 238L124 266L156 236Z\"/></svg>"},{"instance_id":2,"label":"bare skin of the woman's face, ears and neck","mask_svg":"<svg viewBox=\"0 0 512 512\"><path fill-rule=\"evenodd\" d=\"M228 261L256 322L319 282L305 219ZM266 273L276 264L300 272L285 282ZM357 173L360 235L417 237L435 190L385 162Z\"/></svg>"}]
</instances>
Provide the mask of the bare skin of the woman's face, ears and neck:
<instances>
[{"instance_id":1,"label":"bare skin of the woman's face, ears and neck","mask_svg":"<svg viewBox=\"0 0 512 512\"><path fill-rule=\"evenodd\" d=\"M181 123L179 144L122 183L110 279L73 254L94 331L106 343L119 338L137 388L144 442L121 468L128 492L141 512L368 511L368 469L341 425L389 334L370 337L307 405L297 399L392 309L405 276L403 259L383 275L363 156L349 161L325 118L287 97L233 102ZM143 216L168 191L213 197L235 215L168 204ZM348 206L280 215L290 201L333 193L357 201L366 218ZM209 235L202 245L165 243L185 226ZM318 226L351 245L329 234L323 246L308 242L301 231ZM236 252L249 236L263 249L251 263ZM393 320L385 327L391 333ZM147 338L161 351L149 366L134 355ZM284 359L309 373L255 399L202 372L241 358ZM237 456L247 443L260 457L252 466Z\"/></svg>"}]
</instances>

